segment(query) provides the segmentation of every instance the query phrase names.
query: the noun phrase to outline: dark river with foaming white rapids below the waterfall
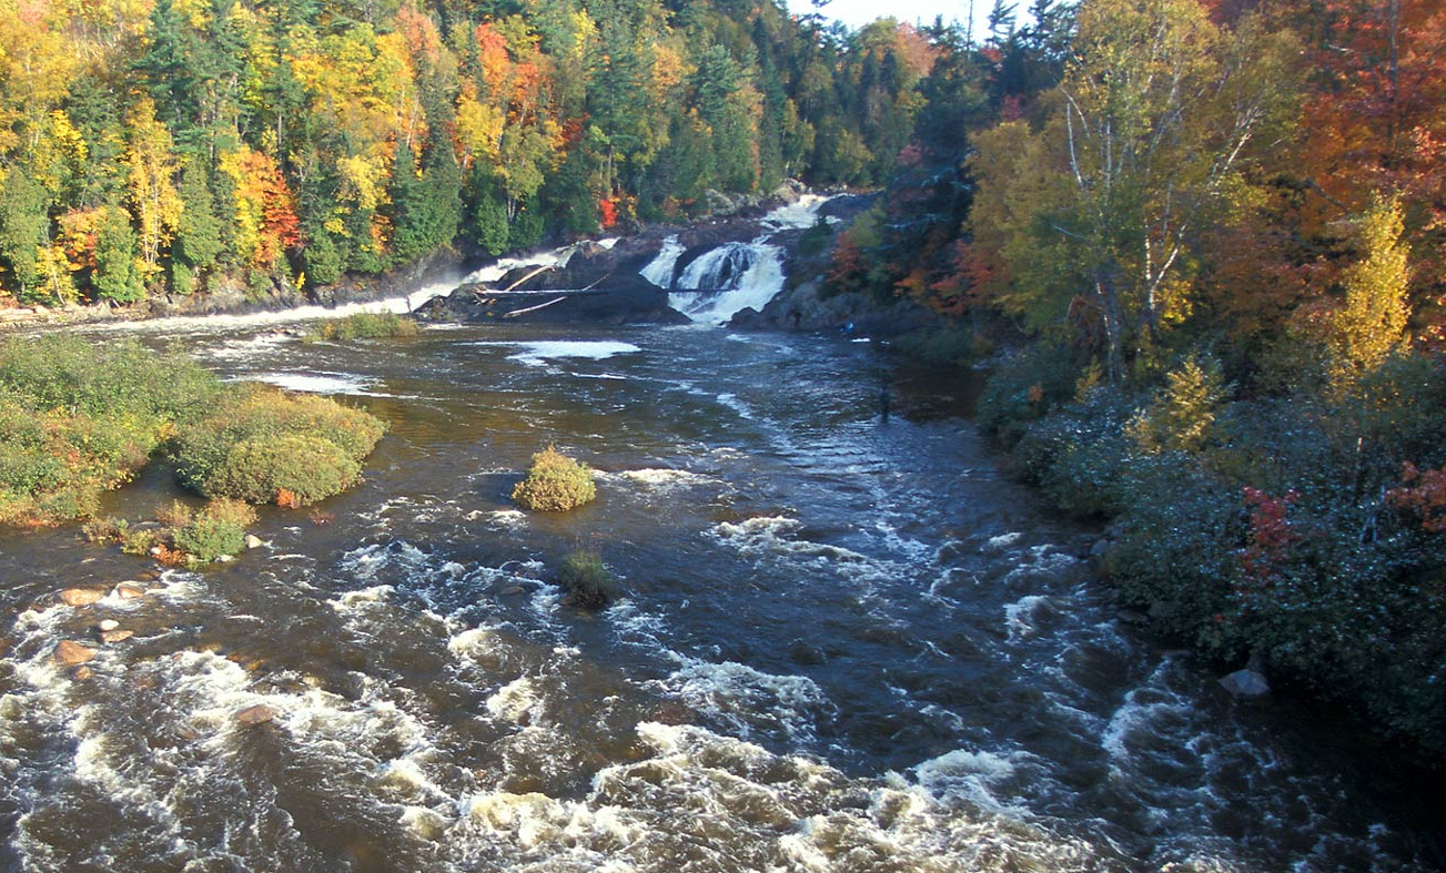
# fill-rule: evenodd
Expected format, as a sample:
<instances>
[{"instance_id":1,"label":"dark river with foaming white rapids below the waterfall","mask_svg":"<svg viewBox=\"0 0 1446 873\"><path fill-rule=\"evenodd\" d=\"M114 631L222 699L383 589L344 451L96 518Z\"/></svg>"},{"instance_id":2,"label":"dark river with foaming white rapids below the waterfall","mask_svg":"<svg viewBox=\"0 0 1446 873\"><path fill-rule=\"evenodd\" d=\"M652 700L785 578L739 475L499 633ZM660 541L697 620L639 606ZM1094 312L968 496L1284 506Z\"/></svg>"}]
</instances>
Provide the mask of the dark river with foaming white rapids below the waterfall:
<instances>
[{"instance_id":1,"label":"dark river with foaming white rapids below the waterfall","mask_svg":"<svg viewBox=\"0 0 1446 873\"><path fill-rule=\"evenodd\" d=\"M0 535L3 870L1433 869L1348 743L1115 620L970 384L709 328L140 335L390 431L204 572ZM549 442L599 500L525 516ZM156 471L110 510L172 496ZM596 616L552 584L577 548L622 578ZM106 617L136 636L93 678L52 665Z\"/></svg>"}]
</instances>

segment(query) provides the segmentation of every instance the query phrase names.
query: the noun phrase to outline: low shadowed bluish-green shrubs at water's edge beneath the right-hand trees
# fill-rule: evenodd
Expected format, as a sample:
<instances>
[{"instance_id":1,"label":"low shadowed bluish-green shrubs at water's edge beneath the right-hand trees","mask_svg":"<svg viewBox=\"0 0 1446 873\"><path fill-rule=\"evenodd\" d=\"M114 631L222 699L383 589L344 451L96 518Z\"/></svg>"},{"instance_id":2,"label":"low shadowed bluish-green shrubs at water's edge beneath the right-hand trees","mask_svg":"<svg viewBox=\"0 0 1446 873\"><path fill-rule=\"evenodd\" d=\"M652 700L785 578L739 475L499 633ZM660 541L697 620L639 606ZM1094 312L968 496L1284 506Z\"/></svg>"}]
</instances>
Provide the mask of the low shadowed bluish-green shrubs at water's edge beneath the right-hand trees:
<instances>
[{"instance_id":1,"label":"low shadowed bluish-green shrubs at water's edge beneath the right-hand trees","mask_svg":"<svg viewBox=\"0 0 1446 873\"><path fill-rule=\"evenodd\" d=\"M1207 354L1106 384L1069 348L996 369L977 422L1057 506L1108 520L1102 569L1155 626L1446 754L1446 367L1242 387Z\"/></svg>"}]
</instances>

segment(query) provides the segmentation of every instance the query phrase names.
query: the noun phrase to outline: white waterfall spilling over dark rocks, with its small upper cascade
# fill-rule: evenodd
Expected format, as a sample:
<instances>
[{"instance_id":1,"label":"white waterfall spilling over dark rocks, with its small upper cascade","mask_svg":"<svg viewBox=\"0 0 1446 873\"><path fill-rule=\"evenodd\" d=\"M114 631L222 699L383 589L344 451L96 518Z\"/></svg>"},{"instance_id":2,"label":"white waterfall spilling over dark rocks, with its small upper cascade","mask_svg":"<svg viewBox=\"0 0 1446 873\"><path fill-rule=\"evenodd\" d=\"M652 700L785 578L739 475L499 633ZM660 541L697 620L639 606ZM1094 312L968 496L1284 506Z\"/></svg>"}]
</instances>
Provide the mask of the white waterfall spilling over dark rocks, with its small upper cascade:
<instances>
[{"instance_id":1,"label":"white waterfall spilling over dark rocks, with its small upper cascade","mask_svg":"<svg viewBox=\"0 0 1446 873\"><path fill-rule=\"evenodd\" d=\"M804 228L817 221L829 198L805 195L759 220L763 233L752 243L724 243L694 259L677 275L683 246L677 236L662 243L642 276L668 295L668 305L701 324L724 325L743 309L762 309L784 289L782 249L769 244L781 230Z\"/></svg>"}]
</instances>

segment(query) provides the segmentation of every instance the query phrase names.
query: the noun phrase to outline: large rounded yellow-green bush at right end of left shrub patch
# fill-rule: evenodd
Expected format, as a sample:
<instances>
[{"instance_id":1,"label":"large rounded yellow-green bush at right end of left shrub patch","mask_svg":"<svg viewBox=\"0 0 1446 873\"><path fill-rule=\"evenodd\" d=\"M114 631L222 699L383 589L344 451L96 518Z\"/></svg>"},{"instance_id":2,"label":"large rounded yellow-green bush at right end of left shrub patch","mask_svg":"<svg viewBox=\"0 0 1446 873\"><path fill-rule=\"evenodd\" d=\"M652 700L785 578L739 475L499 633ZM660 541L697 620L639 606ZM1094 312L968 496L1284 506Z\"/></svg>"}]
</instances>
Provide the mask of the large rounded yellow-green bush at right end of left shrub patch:
<instances>
[{"instance_id":1,"label":"large rounded yellow-green bush at right end of left shrub patch","mask_svg":"<svg viewBox=\"0 0 1446 873\"><path fill-rule=\"evenodd\" d=\"M182 429L172 454L182 484L204 496L301 506L354 484L382 432L334 400L253 386Z\"/></svg>"}]
</instances>

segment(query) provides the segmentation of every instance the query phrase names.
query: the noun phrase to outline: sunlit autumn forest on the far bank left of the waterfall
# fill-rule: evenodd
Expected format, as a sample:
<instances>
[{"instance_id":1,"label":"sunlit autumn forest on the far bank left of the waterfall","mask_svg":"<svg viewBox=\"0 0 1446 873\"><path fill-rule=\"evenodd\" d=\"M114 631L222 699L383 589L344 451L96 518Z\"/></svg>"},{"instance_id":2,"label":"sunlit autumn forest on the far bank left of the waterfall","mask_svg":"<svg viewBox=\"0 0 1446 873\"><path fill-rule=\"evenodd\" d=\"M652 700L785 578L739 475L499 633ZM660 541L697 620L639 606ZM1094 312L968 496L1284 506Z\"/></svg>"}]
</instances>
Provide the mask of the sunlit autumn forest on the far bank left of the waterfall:
<instances>
[{"instance_id":1,"label":"sunlit autumn forest on the far bank left of the waterfall","mask_svg":"<svg viewBox=\"0 0 1446 873\"><path fill-rule=\"evenodd\" d=\"M0 0L0 288L265 293L879 184L937 38L771 0Z\"/></svg>"}]
</instances>

